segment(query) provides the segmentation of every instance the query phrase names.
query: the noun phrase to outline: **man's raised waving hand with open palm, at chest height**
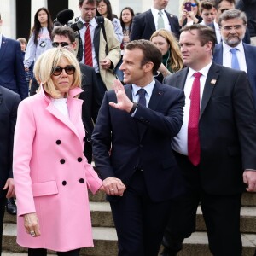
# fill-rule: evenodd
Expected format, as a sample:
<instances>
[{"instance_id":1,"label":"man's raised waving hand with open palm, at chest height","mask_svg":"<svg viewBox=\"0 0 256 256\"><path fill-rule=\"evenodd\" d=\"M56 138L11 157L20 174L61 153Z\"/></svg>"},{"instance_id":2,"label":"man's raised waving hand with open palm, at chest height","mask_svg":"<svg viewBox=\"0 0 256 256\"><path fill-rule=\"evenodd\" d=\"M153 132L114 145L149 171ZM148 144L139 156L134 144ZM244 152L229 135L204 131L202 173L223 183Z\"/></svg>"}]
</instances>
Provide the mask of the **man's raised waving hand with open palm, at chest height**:
<instances>
[{"instance_id":1,"label":"man's raised waving hand with open palm, at chest height","mask_svg":"<svg viewBox=\"0 0 256 256\"><path fill-rule=\"evenodd\" d=\"M113 90L115 91L117 103L109 102L109 105L113 108L125 110L129 113L131 111L133 103L126 96L124 85L118 79L114 79L113 81Z\"/></svg>"}]
</instances>

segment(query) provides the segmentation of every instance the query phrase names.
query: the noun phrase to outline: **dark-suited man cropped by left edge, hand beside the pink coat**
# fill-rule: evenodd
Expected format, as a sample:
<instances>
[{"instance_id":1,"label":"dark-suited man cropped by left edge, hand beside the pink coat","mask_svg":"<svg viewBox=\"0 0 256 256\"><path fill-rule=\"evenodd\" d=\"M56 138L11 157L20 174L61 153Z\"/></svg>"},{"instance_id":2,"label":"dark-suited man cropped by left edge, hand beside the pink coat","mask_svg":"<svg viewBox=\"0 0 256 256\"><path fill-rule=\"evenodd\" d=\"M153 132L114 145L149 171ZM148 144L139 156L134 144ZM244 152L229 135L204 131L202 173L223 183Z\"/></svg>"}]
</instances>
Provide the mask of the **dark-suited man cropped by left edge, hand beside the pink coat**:
<instances>
[{"instance_id":1,"label":"dark-suited man cropped by left edge, hand beside the pink coat","mask_svg":"<svg viewBox=\"0 0 256 256\"><path fill-rule=\"evenodd\" d=\"M0 86L0 254L6 198L15 196L13 180L13 142L20 96Z\"/></svg>"}]
</instances>

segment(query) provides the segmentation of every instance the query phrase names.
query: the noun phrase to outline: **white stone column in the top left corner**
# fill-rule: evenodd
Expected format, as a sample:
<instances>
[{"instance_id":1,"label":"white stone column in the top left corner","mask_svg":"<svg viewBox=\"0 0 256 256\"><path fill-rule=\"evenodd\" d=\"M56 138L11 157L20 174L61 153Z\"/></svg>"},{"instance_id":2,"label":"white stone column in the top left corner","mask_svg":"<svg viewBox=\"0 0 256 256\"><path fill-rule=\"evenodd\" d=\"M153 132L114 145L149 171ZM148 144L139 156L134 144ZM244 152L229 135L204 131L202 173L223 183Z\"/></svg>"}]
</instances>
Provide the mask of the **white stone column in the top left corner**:
<instances>
[{"instance_id":1,"label":"white stone column in the top left corner","mask_svg":"<svg viewBox=\"0 0 256 256\"><path fill-rule=\"evenodd\" d=\"M16 35L16 4L15 0L0 0L1 19L3 20L1 31L7 38L15 38Z\"/></svg>"}]
</instances>

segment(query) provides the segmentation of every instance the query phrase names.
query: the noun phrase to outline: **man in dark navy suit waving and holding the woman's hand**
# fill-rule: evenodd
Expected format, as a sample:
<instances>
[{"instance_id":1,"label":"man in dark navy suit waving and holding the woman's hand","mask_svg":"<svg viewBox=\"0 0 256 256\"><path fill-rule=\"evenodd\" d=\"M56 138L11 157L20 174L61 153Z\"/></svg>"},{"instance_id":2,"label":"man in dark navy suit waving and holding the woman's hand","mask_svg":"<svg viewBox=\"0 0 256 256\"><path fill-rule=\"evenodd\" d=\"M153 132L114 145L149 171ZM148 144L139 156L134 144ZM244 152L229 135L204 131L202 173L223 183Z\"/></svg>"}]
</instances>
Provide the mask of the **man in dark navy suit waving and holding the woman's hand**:
<instances>
[{"instance_id":1,"label":"man in dark navy suit waving and holding the woman's hand","mask_svg":"<svg viewBox=\"0 0 256 256\"><path fill-rule=\"evenodd\" d=\"M96 169L108 194L119 256L156 256L172 200L183 193L171 138L183 123L182 90L160 84L160 50L147 40L127 44L92 135Z\"/></svg>"}]
</instances>

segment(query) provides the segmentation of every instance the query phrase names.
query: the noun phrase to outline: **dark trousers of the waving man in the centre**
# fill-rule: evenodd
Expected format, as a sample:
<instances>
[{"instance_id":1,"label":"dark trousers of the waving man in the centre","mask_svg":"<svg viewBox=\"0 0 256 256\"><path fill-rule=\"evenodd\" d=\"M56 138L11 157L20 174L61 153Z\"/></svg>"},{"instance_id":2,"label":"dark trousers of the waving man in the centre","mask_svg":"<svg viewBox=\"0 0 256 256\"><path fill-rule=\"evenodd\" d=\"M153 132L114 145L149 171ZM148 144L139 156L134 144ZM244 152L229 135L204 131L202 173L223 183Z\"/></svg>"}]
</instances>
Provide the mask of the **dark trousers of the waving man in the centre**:
<instances>
[{"instance_id":1,"label":"dark trousers of the waving man in the centre","mask_svg":"<svg viewBox=\"0 0 256 256\"><path fill-rule=\"evenodd\" d=\"M110 200L110 205L118 235L119 256L157 256L172 201L151 201L143 172L137 171L124 195L118 201Z\"/></svg>"}]
</instances>

